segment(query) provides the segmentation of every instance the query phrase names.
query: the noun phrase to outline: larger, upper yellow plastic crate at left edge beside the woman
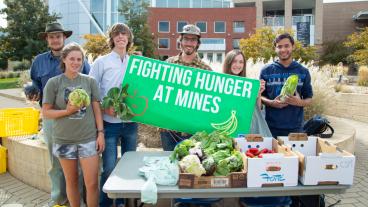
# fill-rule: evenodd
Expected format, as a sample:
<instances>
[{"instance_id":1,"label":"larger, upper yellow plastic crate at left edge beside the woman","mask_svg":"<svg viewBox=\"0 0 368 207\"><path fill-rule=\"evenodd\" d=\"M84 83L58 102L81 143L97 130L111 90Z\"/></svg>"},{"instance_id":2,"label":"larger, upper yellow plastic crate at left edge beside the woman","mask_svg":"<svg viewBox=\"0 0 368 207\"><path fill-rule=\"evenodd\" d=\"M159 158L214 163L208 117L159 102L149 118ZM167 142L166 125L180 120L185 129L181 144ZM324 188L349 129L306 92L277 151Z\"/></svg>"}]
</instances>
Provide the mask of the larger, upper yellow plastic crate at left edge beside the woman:
<instances>
[{"instance_id":1,"label":"larger, upper yellow plastic crate at left edge beside the woman","mask_svg":"<svg viewBox=\"0 0 368 207\"><path fill-rule=\"evenodd\" d=\"M0 137L37 134L39 117L35 108L0 109Z\"/></svg>"}]
</instances>

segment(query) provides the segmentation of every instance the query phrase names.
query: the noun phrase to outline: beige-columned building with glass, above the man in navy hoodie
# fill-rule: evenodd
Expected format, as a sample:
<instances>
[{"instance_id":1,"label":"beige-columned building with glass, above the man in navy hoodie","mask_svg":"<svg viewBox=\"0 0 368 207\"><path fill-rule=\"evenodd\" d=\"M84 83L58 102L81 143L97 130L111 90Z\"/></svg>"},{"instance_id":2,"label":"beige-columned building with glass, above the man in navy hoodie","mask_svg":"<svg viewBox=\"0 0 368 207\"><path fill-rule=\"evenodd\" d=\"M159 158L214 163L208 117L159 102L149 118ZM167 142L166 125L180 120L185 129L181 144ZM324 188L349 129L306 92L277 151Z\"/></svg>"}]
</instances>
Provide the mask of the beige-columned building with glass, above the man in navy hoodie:
<instances>
[{"instance_id":1,"label":"beige-columned building with glass, above the man in navy hoodie","mask_svg":"<svg viewBox=\"0 0 368 207\"><path fill-rule=\"evenodd\" d=\"M323 0L233 0L234 7L254 6L257 28L293 29L306 45L322 44Z\"/></svg>"}]
</instances>

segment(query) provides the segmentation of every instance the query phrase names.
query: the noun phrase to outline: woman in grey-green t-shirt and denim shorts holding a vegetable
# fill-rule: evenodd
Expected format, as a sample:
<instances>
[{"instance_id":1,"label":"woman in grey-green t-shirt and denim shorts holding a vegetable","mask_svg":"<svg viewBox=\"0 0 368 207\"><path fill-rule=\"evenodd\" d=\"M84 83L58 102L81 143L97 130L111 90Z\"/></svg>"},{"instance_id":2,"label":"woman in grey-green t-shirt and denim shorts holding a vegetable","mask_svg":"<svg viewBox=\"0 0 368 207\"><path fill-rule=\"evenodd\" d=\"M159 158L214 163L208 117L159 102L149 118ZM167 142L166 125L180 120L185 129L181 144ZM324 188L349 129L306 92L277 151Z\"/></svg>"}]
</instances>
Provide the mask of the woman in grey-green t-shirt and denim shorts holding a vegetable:
<instances>
[{"instance_id":1,"label":"woman in grey-green t-shirt and denim shorts holding a vegetable","mask_svg":"<svg viewBox=\"0 0 368 207\"><path fill-rule=\"evenodd\" d=\"M97 207L98 154L105 148L98 87L92 77L80 73L84 61L80 45L76 43L66 45L61 51L60 58L63 73L47 82L42 114L45 118L53 119L53 154L59 158L63 168L70 206L80 205L79 160L86 185L87 206ZM83 101L79 103L73 98L72 101L69 100L69 94L76 89L78 92L88 94L84 95ZM74 94L77 91L74 91ZM82 96L75 97L81 99Z\"/></svg>"}]
</instances>

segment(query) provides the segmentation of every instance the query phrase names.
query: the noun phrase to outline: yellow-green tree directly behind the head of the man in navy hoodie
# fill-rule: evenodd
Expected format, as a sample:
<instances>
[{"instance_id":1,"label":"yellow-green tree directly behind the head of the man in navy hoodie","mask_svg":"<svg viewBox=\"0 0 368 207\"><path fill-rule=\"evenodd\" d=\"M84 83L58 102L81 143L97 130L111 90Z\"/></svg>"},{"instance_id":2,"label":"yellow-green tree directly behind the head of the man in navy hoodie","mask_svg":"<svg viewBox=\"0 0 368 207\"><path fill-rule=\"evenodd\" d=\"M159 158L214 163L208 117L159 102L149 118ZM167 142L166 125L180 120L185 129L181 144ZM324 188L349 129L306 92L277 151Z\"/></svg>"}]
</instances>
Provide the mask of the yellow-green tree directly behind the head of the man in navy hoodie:
<instances>
[{"instance_id":1,"label":"yellow-green tree directly behind the head of the man in navy hoodie","mask_svg":"<svg viewBox=\"0 0 368 207\"><path fill-rule=\"evenodd\" d=\"M268 62L271 58L275 59L277 54L273 46L273 40L278 34L292 31L278 30L273 31L269 27L263 27L256 30L255 34L250 35L249 38L240 40L240 49L247 59L252 58L254 62L263 61ZM302 43L295 41L295 49L293 51L293 58L307 63L317 58L316 49L313 46L303 47Z\"/></svg>"}]
</instances>

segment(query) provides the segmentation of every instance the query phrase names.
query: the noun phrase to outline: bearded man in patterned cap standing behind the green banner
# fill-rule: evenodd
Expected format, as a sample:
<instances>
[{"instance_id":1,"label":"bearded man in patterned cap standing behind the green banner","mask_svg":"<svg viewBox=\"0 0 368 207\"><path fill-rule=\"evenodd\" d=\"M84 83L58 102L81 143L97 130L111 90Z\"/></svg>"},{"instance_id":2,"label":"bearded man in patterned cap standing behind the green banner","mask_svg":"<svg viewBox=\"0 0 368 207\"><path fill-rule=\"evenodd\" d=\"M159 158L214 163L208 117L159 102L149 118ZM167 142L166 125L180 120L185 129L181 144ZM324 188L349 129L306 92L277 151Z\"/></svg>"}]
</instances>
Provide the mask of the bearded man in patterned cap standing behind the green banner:
<instances>
[{"instance_id":1,"label":"bearded man in patterned cap standing behind the green banner","mask_svg":"<svg viewBox=\"0 0 368 207\"><path fill-rule=\"evenodd\" d=\"M166 61L169 63L175 63L179 65L185 65L193 68L199 68L203 70L212 70L209 65L207 65L199 57L197 51L201 44L201 30L193 25L188 24L183 27L178 38L178 43L180 44L180 53L176 56L168 58ZM172 151L175 145L189 138L191 135L181 132L175 132L165 129L160 129L162 148L165 151Z\"/></svg>"}]
</instances>

